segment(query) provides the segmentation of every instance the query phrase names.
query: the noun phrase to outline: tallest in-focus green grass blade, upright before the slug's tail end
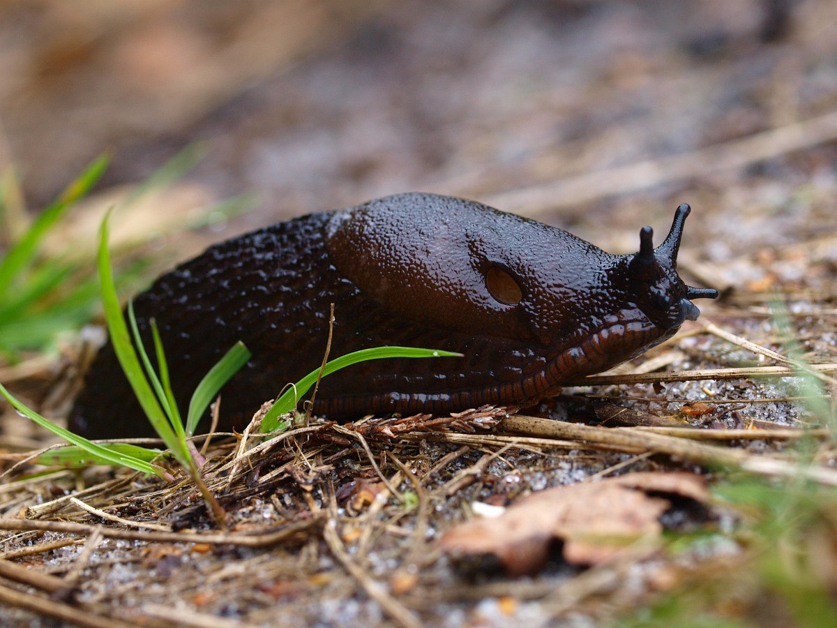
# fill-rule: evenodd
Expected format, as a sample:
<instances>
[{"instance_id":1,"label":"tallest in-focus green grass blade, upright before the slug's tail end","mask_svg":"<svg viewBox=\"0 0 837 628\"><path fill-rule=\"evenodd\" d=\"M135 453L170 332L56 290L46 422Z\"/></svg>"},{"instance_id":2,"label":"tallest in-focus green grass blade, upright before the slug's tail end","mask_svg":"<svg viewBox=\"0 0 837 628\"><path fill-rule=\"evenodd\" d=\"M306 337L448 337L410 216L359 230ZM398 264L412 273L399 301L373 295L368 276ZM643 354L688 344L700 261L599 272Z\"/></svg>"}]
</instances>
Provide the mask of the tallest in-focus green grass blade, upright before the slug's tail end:
<instances>
[{"instance_id":1,"label":"tallest in-focus green grass blade, upright before the slug's tail end","mask_svg":"<svg viewBox=\"0 0 837 628\"><path fill-rule=\"evenodd\" d=\"M122 316L122 308L119 304L119 297L116 296L116 286L113 281L113 272L110 268L110 254L107 248L108 231L109 231L110 214L105 216L100 228L99 241L99 278L101 281L102 291L102 305L105 308L105 320L107 322L108 332L110 332L110 342L113 344L116 358L125 373L128 382L131 383L131 389L136 394L136 399L142 406L146 413L151 426L157 432L157 435L162 438L166 446L172 450L172 453L177 458L177 461L182 465L190 467L192 465L192 458L188 456L188 452L182 449L180 440L177 439L172 425L166 414L157 401L157 395L151 389L151 385L146 379L146 375L142 369L139 358L137 358L136 350L131 344L131 336L128 334L128 326L125 318Z\"/></svg>"}]
</instances>

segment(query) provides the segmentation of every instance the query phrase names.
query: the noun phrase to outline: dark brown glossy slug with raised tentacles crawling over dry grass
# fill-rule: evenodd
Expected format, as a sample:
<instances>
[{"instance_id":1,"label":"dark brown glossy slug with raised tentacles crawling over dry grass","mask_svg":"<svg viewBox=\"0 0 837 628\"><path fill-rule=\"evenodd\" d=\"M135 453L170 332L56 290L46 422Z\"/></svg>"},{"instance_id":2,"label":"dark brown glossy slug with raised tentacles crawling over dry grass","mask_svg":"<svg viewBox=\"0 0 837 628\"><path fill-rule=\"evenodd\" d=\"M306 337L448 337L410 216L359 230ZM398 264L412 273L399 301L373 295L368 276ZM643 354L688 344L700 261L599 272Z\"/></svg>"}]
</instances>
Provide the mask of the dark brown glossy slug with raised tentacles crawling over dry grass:
<instances>
[{"instance_id":1,"label":"dark brown glossy slug with raised tentacles crawling over dry grass","mask_svg":"<svg viewBox=\"0 0 837 628\"><path fill-rule=\"evenodd\" d=\"M717 291L676 272L688 205L665 241L610 255L562 229L462 198L407 193L310 214L209 248L134 303L146 347L157 320L185 408L234 342L253 353L222 390L219 429L243 430L259 404L317 368L335 304L331 358L402 345L462 358L361 363L323 379L314 412L448 413L526 407L562 383L635 358ZM110 344L70 414L96 438L151 435Z\"/></svg>"}]
</instances>

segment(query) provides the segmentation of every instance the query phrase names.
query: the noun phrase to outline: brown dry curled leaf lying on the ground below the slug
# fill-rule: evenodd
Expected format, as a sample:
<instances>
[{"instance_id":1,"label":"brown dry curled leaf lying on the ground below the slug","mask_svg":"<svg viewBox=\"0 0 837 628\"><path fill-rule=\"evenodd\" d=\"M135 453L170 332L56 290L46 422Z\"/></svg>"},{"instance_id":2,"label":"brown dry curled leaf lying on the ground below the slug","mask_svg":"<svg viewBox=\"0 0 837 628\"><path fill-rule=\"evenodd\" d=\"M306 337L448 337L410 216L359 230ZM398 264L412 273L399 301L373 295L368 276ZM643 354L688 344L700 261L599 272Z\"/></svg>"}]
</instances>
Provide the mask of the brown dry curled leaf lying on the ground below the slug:
<instances>
[{"instance_id":1,"label":"brown dry curled leaf lying on the ground below the slug","mask_svg":"<svg viewBox=\"0 0 837 628\"><path fill-rule=\"evenodd\" d=\"M444 535L442 549L458 556L493 554L510 575L535 574L563 541L571 564L600 564L624 557L638 540L655 541L660 515L671 506L661 496L706 502L701 476L632 473L608 480L557 486L523 497L495 519L475 519Z\"/></svg>"}]
</instances>

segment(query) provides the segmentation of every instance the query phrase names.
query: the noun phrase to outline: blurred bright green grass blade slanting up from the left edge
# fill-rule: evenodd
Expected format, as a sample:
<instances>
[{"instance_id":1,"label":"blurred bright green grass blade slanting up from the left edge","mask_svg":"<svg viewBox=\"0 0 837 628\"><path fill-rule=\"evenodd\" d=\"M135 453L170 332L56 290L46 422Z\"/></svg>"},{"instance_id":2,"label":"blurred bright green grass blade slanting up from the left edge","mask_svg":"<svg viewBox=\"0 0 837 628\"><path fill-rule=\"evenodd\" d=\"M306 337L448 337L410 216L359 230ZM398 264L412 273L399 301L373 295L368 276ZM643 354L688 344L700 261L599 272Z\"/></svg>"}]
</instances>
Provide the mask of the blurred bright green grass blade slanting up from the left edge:
<instances>
[{"instance_id":1,"label":"blurred bright green grass blade slanting up from the left edge","mask_svg":"<svg viewBox=\"0 0 837 628\"><path fill-rule=\"evenodd\" d=\"M6 256L0 261L0 300L7 296L12 282L26 268L33 259L39 242L49 229L61 218L64 211L90 191L105 172L108 164L107 157L99 157L82 172L80 177L64 193L44 209L39 217L29 226L26 233L12 245Z\"/></svg>"}]
</instances>

